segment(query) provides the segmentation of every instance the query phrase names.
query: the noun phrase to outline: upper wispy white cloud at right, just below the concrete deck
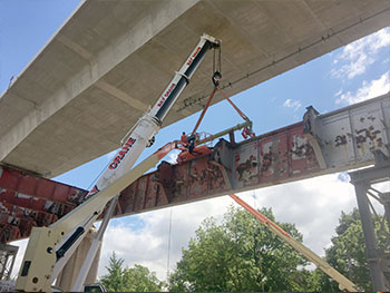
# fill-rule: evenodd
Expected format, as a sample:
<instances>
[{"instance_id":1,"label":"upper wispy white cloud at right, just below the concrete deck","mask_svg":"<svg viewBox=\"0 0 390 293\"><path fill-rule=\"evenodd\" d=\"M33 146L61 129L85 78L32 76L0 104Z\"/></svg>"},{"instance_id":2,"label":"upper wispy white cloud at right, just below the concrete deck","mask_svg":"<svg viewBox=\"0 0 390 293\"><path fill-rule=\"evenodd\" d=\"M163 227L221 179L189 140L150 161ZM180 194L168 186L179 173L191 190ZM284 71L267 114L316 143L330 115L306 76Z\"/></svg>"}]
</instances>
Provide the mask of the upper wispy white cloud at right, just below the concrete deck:
<instances>
[{"instance_id":1,"label":"upper wispy white cloud at right, just below the concrete deck","mask_svg":"<svg viewBox=\"0 0 390 293\"><path fill-rule=\"evenodd\" d=\"M390 46L390 28L381 29L368 37L351 42L333 59L335 68L331 70L332 77L353 77L365 72L365 69L376 61L381 48Z\"/></svg>"}]
</instances>

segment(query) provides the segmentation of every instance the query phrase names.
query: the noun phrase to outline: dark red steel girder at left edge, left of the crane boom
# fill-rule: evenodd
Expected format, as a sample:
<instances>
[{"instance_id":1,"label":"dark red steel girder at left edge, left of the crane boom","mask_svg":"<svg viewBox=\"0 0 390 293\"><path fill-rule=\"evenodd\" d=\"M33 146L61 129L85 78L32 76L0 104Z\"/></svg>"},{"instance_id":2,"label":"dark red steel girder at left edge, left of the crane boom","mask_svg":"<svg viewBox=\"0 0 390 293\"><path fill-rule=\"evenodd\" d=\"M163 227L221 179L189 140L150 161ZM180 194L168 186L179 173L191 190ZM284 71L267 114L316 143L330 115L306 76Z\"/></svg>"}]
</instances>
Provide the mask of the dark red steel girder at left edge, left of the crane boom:
<instances>
[{"instance_id":1,"label":"dark red steel girder at left edge, left of the crane boom","mask_svg":"<svg viewBox=\"0 0 390 293\"><path fill-rule=\"evenodd\" d=\"M0 243L28 237L78 206L87 191L0 166Z\"/></svg>"}]
</instances>

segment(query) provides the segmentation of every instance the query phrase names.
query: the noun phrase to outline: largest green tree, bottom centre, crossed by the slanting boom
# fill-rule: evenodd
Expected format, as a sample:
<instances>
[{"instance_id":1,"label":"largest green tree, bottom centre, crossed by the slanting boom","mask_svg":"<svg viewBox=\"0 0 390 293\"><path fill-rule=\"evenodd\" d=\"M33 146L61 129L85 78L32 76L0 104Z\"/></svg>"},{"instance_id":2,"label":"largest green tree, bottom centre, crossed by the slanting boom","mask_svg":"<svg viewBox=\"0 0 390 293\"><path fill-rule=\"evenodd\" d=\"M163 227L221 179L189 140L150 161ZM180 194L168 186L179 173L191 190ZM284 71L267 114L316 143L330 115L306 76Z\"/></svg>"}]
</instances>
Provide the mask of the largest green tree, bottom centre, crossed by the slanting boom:
<instances>
[{"instance_id":1,"label":"largest green tree, bottom centre, crossed by the slanting boom","mask_svg":"<svg viewBox=\"0 0 390 293\"><path fill-rule=\"evenodd\" d=\"M271 209L261 209L274 221ZM292 224L279 223L295 240L302 234ZM218 225L207 218L183 250L170 291L310 291L306 261L256 218L231 207Z\"/></svg>"}]
</instances>

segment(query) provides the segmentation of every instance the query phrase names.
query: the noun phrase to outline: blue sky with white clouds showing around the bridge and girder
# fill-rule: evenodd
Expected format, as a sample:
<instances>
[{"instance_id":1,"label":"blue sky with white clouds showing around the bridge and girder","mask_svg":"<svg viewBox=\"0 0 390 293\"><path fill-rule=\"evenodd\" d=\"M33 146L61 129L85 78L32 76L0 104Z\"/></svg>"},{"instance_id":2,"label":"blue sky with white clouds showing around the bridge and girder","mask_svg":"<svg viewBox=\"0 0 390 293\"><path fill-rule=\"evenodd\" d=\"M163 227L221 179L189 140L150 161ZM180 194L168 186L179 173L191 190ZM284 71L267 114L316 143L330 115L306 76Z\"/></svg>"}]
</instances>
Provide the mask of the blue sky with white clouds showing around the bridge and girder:
<instances>
[{"instance_id":1,"label":"blue sky with white clouds showing around the bridge and girder","mask_svg":"<svg viewBox=\"0 0 390 293\"><path fill-rule=\"evenodd\" d=\"M0 92L7 89L12 76L20 75L78 4L76 0L0 0ZM260 135L301 120L305 107L310 105L320 113L326 113L372 98L390 89L389 48L390 29L387 28L245 90L232 100L253 120L254 131ZM174 72L177 68L172 70ZM162 85L162 90L165 86ZM192 130L197 117L198 114L195 114L162 129L155 146L147 149L142 158L167 141L177 139L183 130ZM213 134L241 121L232 107L223 101L211 107L199 130ZM88 188L111 157L113 154L105 155L56 179ZM257 207L271 206L276 218L295 223L304 234L305 244L321 254L323 247L329 245L340 211L350 211L355 205L353 189L343 178L338 174L328 175L263 188L243 196L253 203L248 198L256 195L254 202ZM289 195L291 191L296 197ZM345 196L331 197L334 191ZM314 193L319 194L315 199L312 196ZM305 201L295 206L292 203L295 198ZM179 260L181 247L186 245L202 219L221 216L228 204L228 198L217 198L172 209L173 217L181 218L181 223L175 223L173 227L170 270ZM329 213L323 218L311 218L315 217L316 211ZM127 265L142 263L155 270L160 277L164 276L168 213L168 209L163 209L113 221L107 231L99 274L105 273L104 265L115 250ZM325 221L326 217L331 217L331 221ZM320 235L319 231L324 235ZM113 241L115 236L125 234L129 237L126 245L134 247L128 248ZM145 255L145 244L138 247L137 243L147 243L150 252Z\"/></svg>"}]
</instances>

